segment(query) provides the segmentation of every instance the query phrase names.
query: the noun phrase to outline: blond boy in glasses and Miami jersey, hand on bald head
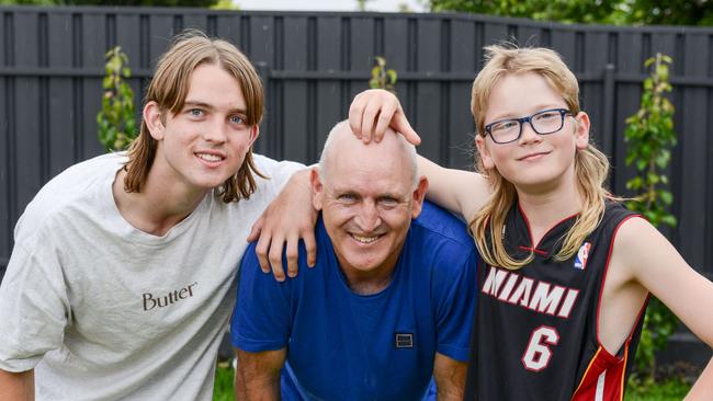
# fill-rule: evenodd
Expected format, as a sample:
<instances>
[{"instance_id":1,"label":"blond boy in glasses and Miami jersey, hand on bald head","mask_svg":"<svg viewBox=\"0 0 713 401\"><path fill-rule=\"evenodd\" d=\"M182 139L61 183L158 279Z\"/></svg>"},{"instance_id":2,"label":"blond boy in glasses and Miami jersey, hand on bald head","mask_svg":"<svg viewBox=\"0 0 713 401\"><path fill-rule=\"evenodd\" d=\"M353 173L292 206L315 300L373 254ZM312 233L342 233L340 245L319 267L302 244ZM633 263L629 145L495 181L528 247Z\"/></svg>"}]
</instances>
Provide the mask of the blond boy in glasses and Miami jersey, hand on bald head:
<instances>
[{"instance_id":1,"label":"blond boy in glasses and Miami jersey, hand on bald head","mask_svg":"<svg viewBox=\"0 0 713 401\"><path fill-rule=\"evenodd\" d=\"M609 161L559 56L486 51L472 92L478 172L421 160L429 198L469 221L484 261L466 398L622 400L649 294L713 345L713 283L603 187ZM412 133L385 91L359 95L350 121L365 141L389 121ZM712 379L709 367L690 399L711 399Z\"/></svg>"}]
</instances>

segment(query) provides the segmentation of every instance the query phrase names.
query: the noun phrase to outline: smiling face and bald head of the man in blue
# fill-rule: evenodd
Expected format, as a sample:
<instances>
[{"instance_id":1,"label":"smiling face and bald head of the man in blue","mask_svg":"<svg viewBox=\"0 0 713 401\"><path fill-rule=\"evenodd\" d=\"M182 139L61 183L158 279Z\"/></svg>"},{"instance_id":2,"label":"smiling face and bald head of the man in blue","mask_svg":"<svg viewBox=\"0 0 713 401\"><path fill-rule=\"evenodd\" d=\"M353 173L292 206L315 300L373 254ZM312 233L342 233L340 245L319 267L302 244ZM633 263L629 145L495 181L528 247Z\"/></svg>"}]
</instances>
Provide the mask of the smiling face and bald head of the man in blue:
<instances>
[{"instance_id":1,"label":"smiling face and bald head of the man in blue","mask_svg":"<svg viewBox=\"0 0 713 401\"><path fill-rule=\"evenodd\" d=\"M338 126L339 127L339 126ZM391 274L428 183L414 188L414 168L396 134L363 145L349 127L332 139L320 177L313 171L314 206L348 279Z\"/></svg>"}]
</instances>

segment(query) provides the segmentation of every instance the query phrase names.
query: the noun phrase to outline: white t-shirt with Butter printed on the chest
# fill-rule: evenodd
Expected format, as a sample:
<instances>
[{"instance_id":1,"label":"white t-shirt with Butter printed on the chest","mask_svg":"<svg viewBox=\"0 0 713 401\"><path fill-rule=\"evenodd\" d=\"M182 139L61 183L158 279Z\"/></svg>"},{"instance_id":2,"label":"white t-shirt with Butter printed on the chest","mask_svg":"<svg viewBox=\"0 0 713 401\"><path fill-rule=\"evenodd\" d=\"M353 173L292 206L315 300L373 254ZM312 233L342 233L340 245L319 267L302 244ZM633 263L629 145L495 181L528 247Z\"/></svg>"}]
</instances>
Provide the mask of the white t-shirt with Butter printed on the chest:
<instances>
[{"instance_id":1,"label":"white t-shirt with Butter printed on the chest","mask_svg":"<svg viewBox=\"0 0 713 401\"><path fill-rule=\"evenodd\" d=\"M38 400L210 400L250 227L302 165L254 156L249 199L208 194L165 236L131 226L104 154L47 183L15 227L0 287L0 368Z\"/></svg>"}]
</instances>

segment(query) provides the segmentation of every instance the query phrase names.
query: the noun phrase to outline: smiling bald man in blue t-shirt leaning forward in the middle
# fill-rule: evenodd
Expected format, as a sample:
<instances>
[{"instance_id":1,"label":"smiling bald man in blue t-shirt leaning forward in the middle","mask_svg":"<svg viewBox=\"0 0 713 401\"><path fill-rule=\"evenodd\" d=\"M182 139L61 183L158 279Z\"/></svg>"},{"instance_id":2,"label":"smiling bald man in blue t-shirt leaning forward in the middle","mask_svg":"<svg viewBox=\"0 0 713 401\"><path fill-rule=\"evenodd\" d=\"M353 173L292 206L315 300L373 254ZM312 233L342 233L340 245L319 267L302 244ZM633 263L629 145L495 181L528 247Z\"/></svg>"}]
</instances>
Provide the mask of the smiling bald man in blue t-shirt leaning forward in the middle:
<instances>
[{"instance_id":1,"label":"smiling bald man in blue t-shirt leaning forward in the middle","mask_svg":"<svg viewBox=\"0 0 713 401\"><path fill-rule=\"evenodd\" d=\"M317 265L283 283L242 260L231 339L240 400L461 400L478 255L425 204L414 146L346 122L312 171ZM430 394L430 396L429 396Z\"/></svg>"}]
</instances>

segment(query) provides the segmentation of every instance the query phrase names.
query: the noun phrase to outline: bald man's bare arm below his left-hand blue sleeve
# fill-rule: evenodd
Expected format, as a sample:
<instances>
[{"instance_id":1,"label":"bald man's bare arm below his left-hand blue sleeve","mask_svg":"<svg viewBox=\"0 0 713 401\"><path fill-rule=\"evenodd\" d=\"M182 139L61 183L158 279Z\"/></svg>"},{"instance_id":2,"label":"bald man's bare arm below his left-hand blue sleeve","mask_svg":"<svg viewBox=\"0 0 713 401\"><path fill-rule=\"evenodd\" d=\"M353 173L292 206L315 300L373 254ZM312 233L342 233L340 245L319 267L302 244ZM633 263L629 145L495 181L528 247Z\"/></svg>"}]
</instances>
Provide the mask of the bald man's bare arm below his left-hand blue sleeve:
<instances>
[{"instance_id":1,"label":"bald man's bare arm below his left-hand blue sleeve","mask_svg":"<svg viewBox=\"0 0 713 401\"><path fill-rule=\"evenodd\" d=\"M236 350L236 355L235 399L280 400L280 370L285 364L286 348L259 353Z\"/></svg>"}]
</instances>

